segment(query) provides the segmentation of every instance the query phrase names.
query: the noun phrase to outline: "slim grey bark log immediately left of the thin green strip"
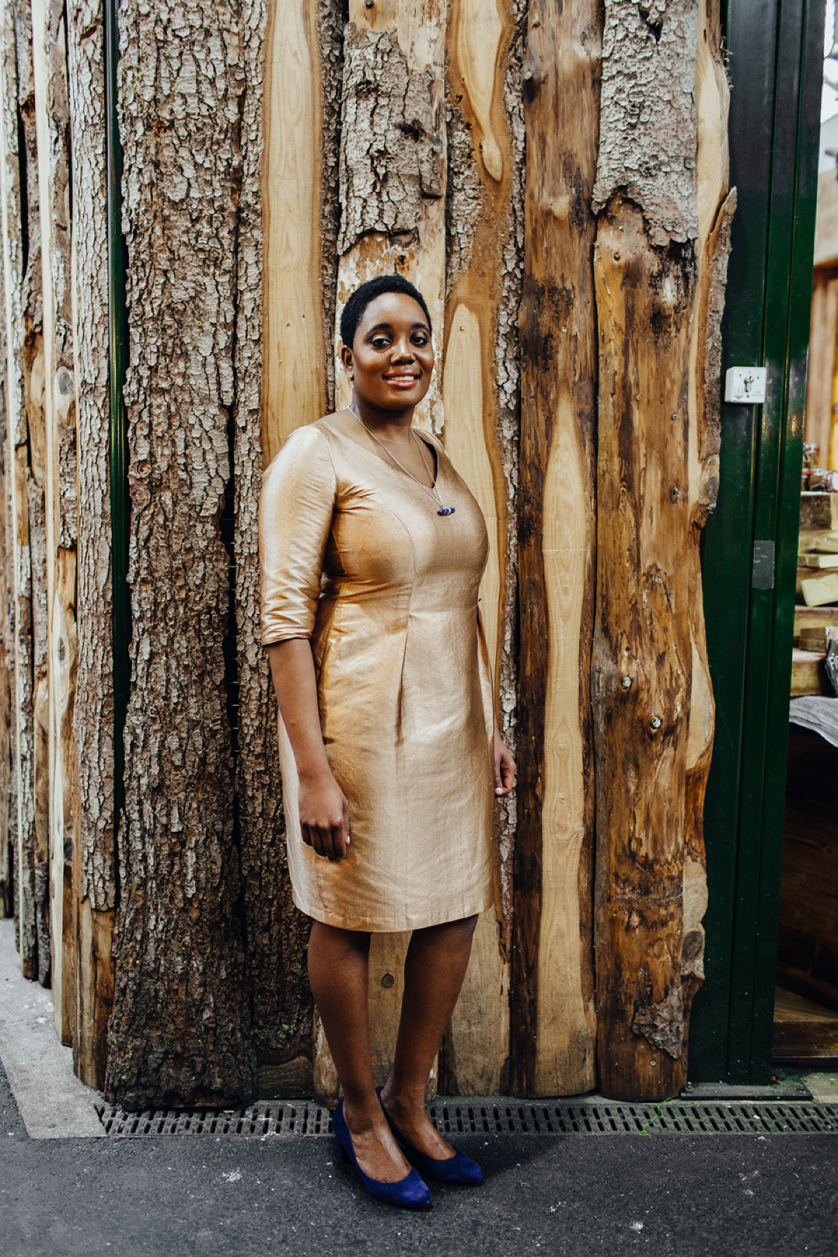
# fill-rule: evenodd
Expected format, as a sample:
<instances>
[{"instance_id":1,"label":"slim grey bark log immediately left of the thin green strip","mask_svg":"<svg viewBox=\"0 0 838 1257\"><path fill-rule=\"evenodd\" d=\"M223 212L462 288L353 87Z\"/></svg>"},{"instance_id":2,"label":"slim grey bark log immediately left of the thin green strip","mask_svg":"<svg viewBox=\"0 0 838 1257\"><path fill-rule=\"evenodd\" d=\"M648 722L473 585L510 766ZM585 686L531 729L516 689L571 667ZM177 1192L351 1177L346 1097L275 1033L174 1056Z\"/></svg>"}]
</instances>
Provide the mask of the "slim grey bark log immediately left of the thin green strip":
<instances>
[{"instance_id":1,"label":"slim grey bark log immediately left of the thin green strip","mask_svg":"<svg viewBox=\"0 0 838 1257\"><path fill-rule=\"evenodd\" d=\"M112 934L117 872L108 475L108 239L101 0L70 0L67 45L73 151L73 395L77 398L78 450L78 656L72 773L75 939L73 1063L75 1072L88 1086L102 1090L107 1027L113 1007ZM63 388L67 388L67 381L59 380L58 387L62 397L65 397ZM59 466L62 465L59 454ZM69 502L67 514L72 514ZM62 544L67 527L63 522Z\"/></svg>"}]
</instances>

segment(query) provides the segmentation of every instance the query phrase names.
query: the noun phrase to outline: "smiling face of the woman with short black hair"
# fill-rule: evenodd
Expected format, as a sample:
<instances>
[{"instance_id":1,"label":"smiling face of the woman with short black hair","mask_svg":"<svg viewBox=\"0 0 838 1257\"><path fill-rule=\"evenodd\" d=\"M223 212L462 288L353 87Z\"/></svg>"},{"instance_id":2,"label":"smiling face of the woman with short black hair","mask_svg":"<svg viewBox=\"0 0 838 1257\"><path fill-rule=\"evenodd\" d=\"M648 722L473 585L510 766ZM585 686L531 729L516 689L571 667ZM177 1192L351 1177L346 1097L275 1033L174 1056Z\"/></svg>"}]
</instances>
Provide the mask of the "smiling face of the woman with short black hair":
<instances>
[{"instance_id":1,"label":"smiling face of the woman with short black hair","mask_svg":"<svg viewBox=\"0 0 838 1257\"><path fill-rule=\"evenodd\" d=\"M381 410L416 406L431 386L433 344L422 307L406 293L383 293L363 312L340 361L356 396Z\"/></svg>"}]
</instances>

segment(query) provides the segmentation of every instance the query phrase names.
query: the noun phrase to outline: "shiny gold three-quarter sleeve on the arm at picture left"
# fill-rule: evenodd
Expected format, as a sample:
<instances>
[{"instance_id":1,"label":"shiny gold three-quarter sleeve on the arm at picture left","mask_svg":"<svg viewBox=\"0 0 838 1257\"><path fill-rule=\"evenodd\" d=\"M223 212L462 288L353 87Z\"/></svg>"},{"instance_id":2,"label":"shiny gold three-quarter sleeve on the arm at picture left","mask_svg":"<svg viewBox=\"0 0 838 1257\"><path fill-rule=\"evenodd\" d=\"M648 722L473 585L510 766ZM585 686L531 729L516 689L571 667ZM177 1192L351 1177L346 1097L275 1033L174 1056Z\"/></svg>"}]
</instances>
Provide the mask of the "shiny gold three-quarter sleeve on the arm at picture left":
<instances>
[{"instance_id":1,"label":"shiny gold three-quarter sleeve on the arm at picture left","mask_svg":"<svg viewBox=\"0 0 838 1257\"><path fill-rule=\"evenodd\" d=\"M312 635L335 490L327 437L313 426L297 429L261 484L263 646Z\"/></svg>"}]
</instances>

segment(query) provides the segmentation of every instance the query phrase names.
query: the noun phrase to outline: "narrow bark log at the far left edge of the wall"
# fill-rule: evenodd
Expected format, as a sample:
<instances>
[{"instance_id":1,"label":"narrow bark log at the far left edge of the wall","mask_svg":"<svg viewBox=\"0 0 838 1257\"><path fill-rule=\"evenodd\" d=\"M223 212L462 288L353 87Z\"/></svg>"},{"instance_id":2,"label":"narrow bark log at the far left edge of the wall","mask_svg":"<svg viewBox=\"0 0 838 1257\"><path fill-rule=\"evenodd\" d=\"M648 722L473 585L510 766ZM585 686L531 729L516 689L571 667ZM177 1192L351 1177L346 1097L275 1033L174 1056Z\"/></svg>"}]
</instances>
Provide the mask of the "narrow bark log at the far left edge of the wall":
<instances>
[{"instance_id":1,"label":"narrow bark log at the far left edge of the wall","mask_svg":"<svg viewBox=\"0 0 838 1257\"><path fill-rule=\"evenodd\" d=\"M24 279L28 255L21 229L26 196L18 143L15 0L3 8L3 251L6 318L8 479L14 611L13 791L15 811L15 915L20 965L38 977L34 832L34 720L31 567L26 469L29 430L24 401Z\"/></svg>"}]
</instances>

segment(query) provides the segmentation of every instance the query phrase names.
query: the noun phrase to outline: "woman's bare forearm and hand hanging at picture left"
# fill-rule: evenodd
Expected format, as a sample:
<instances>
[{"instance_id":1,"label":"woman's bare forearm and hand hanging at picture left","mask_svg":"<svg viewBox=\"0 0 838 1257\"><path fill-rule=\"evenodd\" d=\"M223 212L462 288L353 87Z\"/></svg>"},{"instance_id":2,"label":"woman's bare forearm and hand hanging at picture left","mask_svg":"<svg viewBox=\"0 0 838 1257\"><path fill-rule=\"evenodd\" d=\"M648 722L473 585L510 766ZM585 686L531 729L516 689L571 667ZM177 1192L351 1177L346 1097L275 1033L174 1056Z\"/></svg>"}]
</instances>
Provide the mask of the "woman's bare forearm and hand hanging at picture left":
<instances>
[{"instance_id":1,"label":"woman's bare forearm and hand hanging at picture left","mask_svg":"<svg viewBox=\"0 0 838 1257\"><path fill-rule=\"evenodd\" d=\"M297 763L303 842L327 860L343 860L349 808L325 758L312 647L307 637L293 637L269 646L268 660Z\"/></svg>"}]
</instances>

